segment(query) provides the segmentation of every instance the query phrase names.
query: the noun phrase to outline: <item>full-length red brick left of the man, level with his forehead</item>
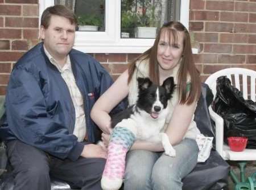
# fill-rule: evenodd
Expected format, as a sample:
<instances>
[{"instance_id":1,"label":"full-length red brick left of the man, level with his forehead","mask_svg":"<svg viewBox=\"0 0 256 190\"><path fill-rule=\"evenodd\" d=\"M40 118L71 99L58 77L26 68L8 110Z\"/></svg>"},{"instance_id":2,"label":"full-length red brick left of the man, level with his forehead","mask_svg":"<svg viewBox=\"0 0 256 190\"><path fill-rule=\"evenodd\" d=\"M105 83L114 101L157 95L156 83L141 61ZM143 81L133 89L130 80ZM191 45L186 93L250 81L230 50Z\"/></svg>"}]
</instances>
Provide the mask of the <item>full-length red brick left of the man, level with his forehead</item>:
<instances>
[{"instance_id":1,"label":"full-length red brick left of the man, level with his forehead","mask_svg":"<svg viewBox=\"0 0 256 190\"><path fill-rule=\"evenodd\" d=\"M38 27L38 18L20 18L20 17L6 17L6 27Z\"/></svg>"}]
</instances>

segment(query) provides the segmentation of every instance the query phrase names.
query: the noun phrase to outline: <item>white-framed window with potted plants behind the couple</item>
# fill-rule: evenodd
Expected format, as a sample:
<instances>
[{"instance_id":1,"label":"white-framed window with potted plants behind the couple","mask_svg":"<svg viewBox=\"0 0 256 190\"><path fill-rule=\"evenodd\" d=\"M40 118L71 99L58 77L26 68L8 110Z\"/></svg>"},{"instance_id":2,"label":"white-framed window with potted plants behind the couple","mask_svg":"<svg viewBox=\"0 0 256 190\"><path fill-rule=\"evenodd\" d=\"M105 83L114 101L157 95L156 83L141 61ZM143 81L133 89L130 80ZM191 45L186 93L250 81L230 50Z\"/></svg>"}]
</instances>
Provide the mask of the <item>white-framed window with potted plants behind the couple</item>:
<instances>
[{"instance_id":1,"label":"white-framed window with potted plants behind the couple","mask_svg":"<svg viewBox=\"0 0 256 190\"><path fill-rule=\"evenodd\" d=\"M139 27L151 24L156 32L163 22L175 19L188 28L187 0L39 0L39 16L46 7L55 3L68 6L80 16L80 26L82 22L88 22L82 21L82 17L88 17L86 14L92 17L89 25L97 27L94 31L80 28L76 32L75 48L87 53L142 53L154 43L155 33L140 35ZM137 16L133 21L134 26L127 27L127 13ZM139 19L144 20L139 22Z\"/></svg>"}]
</instances>

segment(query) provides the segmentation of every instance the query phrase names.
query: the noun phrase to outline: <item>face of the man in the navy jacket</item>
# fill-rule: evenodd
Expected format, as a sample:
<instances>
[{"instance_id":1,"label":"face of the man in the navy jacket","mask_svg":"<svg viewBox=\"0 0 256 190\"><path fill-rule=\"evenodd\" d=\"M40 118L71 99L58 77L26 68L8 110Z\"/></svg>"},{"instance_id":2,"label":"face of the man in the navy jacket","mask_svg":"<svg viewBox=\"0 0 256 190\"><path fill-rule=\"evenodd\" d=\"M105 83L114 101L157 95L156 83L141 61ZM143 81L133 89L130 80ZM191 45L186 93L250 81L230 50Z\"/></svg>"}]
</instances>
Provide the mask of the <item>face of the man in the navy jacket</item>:
<instances>
[{"instance_id":1,"label":"face of the man in the navy jacket","mask_svg":"<svg viewBox=\"0 0 256 190\"><path fill-rule=\"evenodd\" d=\"M75 41L75 24L62 16L52 15L48 28L40 27L40 37L54 59L63 59Z\"/></svg>"}]
</instances>

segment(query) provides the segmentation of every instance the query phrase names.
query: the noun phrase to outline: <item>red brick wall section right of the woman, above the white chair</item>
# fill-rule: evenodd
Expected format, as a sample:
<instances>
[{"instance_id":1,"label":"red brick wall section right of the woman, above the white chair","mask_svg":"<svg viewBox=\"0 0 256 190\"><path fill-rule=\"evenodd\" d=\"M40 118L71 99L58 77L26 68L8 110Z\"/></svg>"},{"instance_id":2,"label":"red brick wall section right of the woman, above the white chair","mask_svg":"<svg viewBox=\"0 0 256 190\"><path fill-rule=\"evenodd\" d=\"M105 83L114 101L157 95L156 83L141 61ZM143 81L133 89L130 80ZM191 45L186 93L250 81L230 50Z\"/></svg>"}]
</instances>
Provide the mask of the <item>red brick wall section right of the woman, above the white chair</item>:
<instances>
[{"instance_id":1,"label":"red brick wall section right of the woman, above the white chair","mask_svg":"<svg viewBox=\"0 0 256 190\"><path fill-rule=\"evenodd\" d=\"M189 30L204 81L229 67L256 71L256 1L191 0Z\"/></svg>"}]
</instances>

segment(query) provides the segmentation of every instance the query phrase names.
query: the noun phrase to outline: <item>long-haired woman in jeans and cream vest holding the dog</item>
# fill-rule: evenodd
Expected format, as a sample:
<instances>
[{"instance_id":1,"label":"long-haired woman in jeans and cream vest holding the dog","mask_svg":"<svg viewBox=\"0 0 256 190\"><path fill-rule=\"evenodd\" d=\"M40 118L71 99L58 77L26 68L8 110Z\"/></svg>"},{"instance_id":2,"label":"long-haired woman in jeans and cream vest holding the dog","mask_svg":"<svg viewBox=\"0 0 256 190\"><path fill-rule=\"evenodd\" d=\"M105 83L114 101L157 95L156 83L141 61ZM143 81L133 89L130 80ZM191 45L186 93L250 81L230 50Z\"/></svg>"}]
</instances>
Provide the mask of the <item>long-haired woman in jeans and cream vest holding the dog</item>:
<instances>
[{"instance_id":1,"label":"long-haired woman in jeans and cream vest holding the dog","mask_svg":"<svg viewBox=\"0 0 256 190\"><path fill-rule=\"evenodd\" d=\"M181 180L196 166L196 141L184 136L199 133L193 114L201 82L193 62L189 33L183 24L163 24L154 45L131 63L92 109L91 117L103 131L102 139L108 146L111 131L108 113L126 96L129 105L136 102L137 77L150 77L155 84L162 84L170 76L174 77L177 89L171 99L172 111L166 119L166 133L176 156L163 154L162 144L135 141L126 155L124 187L127 190L182 189Z\"/></svg>"}]
</instances>

